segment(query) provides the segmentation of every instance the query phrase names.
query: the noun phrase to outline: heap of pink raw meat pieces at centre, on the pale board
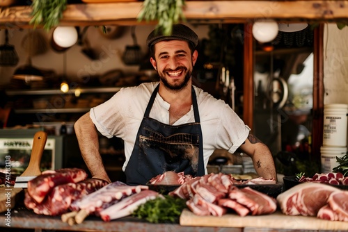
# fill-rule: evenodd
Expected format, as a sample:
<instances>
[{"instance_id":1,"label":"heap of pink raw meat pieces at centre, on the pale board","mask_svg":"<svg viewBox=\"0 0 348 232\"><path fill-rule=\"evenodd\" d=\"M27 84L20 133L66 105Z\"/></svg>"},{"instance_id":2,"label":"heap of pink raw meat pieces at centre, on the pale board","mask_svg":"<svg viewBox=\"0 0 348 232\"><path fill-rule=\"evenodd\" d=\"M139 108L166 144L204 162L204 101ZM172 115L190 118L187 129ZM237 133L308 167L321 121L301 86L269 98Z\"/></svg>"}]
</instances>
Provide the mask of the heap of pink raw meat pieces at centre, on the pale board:
<instances>
[{"instance_id":1,"label":"heap of pink raw meat pieces at centre, on the pale board","mask_svg":"<svg viewBox=\"0 0 348 232\"><path fill-rule=\"evenodd\" d=\"M232 209L244 217L274 213L277 208L276 199L249 187L239 189L233 178L222 173L196 177L169 194L187 199L187 207L195 215L221 216Z\"/></svg>"}]
</instances>

